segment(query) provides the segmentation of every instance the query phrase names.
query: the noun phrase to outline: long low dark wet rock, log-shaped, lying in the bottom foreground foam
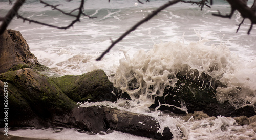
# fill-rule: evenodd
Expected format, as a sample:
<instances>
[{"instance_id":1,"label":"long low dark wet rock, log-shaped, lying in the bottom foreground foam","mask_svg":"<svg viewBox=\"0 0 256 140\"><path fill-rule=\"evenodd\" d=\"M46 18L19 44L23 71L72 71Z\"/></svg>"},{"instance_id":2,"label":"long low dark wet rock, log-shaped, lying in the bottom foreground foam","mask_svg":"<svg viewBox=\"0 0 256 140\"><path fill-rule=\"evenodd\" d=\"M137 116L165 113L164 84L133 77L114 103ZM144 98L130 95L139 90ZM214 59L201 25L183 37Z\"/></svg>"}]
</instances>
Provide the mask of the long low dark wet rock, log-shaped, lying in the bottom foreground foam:
<instances>
[{"instance_id":1,"label":"long low dark wet rock, log-shaped, lying in the bottom foreground foam","mask_svg":"<svg viewBox=\"0 0 256 140\"><path fill-rule=\"evenodd\" d=\"M165 128L163 135L157 133L159 123L150 116L109 108L105 106L79 107L74 111L77 126L94 133L113 129L154 139L172 139Z\"/></svg>"}]
</instances>

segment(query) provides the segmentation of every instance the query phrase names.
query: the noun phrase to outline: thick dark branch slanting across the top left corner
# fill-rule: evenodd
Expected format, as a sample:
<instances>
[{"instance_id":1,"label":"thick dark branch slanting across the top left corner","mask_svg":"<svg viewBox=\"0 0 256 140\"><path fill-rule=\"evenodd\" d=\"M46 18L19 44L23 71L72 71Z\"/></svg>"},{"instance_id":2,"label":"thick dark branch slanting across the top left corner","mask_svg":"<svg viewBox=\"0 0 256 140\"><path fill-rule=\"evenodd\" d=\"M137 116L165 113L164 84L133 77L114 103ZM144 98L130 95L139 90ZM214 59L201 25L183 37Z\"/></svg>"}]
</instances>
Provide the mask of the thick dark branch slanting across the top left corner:
<instances>
[{"instance_id":1,"label":"thick dark branch slanting across the top left corner","mask_svg":"<svg viewBox=\"0 0 256 140\"><path fill-rule=\"evenodd\" d=\"M10 1L9 1L10 2ZM2 19L2 24L0 26L0 35L4 33L10 22L12 21L13 17L17 15L17 11L19 8L23 5L25 0L17 0L13 7L9 10L9 12L6 14L4 19Z\"/></svg>"}]
</instances>

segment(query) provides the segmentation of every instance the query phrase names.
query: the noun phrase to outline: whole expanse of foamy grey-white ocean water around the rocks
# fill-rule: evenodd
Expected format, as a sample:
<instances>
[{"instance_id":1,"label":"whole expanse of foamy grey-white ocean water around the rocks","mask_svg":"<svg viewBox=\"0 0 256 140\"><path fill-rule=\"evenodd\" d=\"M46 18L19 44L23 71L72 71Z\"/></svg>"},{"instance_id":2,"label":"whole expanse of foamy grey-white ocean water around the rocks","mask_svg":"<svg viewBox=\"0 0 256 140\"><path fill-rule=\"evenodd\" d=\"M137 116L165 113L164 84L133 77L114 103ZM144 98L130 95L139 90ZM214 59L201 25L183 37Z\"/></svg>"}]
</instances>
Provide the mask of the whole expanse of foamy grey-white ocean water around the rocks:
<instances>
[{"instance_id":1,"label":"whole expanse of foamy grey-white ocean water around the rocks","mask_svg":"<svg viewBox=\"0 0 256 140\"><path fill-rule=\"evenodd\" d=\"M46 1L71 11L79 1ZM137 3L137 4L136 4ZM197 5L178 3L160 12L150 21L116 44L101 61L97 57L132 25L166 3L164 0L140 4L137 1L88 0L84 12L95 19L82 17L71 29L59 30L14 18L9 29L19 30L39 62L51 68L57 76L80 75L103 69L114 86L132 97L131 107L120 107L127 102L80 103L81 107L107 105L125 111L146 114L161 124L159 132L169 127L174 139L255 139L254 123L238 125L234 118L218 116L185 120L161 111L150 111L152 95L161 96L165 86L175 87L177 71L186 69L204 72L219 79L226 88L217 89L220 102L229 101L237 108L256 102L256 27L250 35L249 20L236 33L242 17L235 12L232 19L211 15L220 10L230 12L224 1L214 1L211 8L201 11ZM248 1L250 5L252 1ZM10 9L8 1L0 2L0 13ZM38 1L26 1L20 14L33 20L66 26L72 20L58 11L44 7ZM209 69L215 68L214 71ZM51 75L51 73L49 73ZM173 78L169 79L171 75ZM56 74L55 74L56 76ZM133 88L129 82L133 82ZM154 88L150 88L150 87ZM240 87L240 91L236 91ZM231 96L230 96L231 95ZM138 104L138 101L140 102ZM180 108L186 111L185 107ZM9 134L41 139L148 139L114 131L107 134L80 133L75 129L26 129ZM31 135L31 133L36 133Z\"/></svg>"}]
</instances>

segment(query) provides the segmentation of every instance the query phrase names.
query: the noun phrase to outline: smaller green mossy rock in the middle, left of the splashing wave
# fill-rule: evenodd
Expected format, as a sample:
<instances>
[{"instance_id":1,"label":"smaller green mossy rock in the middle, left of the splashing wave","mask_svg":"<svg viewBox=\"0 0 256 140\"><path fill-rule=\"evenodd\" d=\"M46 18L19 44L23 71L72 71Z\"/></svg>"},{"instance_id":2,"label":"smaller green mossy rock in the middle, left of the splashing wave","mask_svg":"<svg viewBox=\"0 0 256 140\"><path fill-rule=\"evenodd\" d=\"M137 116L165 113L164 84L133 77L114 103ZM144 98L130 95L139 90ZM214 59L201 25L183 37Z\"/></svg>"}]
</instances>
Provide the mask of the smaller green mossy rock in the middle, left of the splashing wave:
<instances>
[{"instance_id":1,"label":"smaller green mossy rock in the middle, left of the splashing wave","mask_svg":"<svg viewBox=\"0 0 256 140\"><path fill-rule=\"evenodd\" d=\"M103 70L54 78L56 85L76 102L116 101L114 87Z\"/></svg>"}]
</instances>

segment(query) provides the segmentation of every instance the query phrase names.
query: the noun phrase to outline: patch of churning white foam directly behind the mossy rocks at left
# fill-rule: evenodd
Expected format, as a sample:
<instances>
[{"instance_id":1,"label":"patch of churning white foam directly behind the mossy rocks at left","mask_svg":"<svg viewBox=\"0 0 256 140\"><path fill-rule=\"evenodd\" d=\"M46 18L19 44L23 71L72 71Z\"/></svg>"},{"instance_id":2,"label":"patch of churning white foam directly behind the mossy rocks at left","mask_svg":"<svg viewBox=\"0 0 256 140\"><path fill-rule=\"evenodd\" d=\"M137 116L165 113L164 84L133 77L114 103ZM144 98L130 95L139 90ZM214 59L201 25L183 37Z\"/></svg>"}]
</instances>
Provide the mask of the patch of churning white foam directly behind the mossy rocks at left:
<instances>
[{"instance_id":1,"label":"patch of churning white foam directly behind the mossy rocks at left","mask_svg":"<svg viewBox=\"0 0 256 140\"><path fill-rule=\"evenodd\" d=\"M114 64L118 63L116 58L121 58L120 53L110 53L97 63L96 58L99 53L77 53L76 48L69 50L61 48L57 52L33 51L33 54L42 65L48 66L59 75L81 75L96 69L103 69L106 73L110 73L115 70Z\"/></svg>"}]
</instances>

